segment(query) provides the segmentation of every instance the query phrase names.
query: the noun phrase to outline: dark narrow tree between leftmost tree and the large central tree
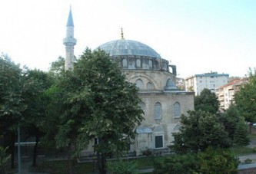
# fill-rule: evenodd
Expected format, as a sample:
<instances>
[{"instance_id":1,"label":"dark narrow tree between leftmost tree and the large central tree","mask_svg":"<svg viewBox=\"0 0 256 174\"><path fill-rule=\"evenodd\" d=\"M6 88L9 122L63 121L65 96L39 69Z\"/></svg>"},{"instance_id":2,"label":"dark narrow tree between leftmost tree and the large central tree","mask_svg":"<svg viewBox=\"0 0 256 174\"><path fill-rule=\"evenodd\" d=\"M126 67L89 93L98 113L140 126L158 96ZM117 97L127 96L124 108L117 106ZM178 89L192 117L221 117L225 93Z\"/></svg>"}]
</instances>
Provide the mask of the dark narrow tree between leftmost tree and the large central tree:
<instances>
[{"instance_id":1,"label":"dark narrow tree between leftmost tree and the large central tree","mask_svg":"<svg viewBox=\"0 0 256 174\"><path fill-rule=\"evenodd\" d=\"M27 70L25 73L22 96L27 108L22 112L25 117L23 130L25 130L27 136L35 137L32 166L36 166L38 142L44 135L42 123L45 120L48 103L45 90L50 87L51 82L48 79L48 74L43 71Z\"/></svg>"}]
</instances>

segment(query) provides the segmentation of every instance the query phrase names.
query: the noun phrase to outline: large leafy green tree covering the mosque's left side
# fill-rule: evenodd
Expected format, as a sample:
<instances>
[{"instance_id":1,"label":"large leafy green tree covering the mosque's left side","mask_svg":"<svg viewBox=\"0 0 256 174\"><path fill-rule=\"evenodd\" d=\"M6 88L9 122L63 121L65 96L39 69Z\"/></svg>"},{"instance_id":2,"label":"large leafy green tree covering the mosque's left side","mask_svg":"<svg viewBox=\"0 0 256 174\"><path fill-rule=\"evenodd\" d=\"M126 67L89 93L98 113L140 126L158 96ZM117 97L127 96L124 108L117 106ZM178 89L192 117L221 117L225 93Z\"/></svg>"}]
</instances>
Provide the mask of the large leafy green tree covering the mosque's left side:
<instances>
[{"instance_id":1,"label":"large leafy green tree covering the mosque's left side","mask_svg":"<svg viewBox=\"0 0 256 174\"><path fill-rule=\"evenodd\" d=\"M128 150L143 119L138 88L125 80L105 51L89 49L78 58L74 71L65 72L59 87L65 91L65 113L58 137L66 137L66 144L75 149L95 140L99 170L106 173L107 157Z\"/></svg>"}]
</instances>

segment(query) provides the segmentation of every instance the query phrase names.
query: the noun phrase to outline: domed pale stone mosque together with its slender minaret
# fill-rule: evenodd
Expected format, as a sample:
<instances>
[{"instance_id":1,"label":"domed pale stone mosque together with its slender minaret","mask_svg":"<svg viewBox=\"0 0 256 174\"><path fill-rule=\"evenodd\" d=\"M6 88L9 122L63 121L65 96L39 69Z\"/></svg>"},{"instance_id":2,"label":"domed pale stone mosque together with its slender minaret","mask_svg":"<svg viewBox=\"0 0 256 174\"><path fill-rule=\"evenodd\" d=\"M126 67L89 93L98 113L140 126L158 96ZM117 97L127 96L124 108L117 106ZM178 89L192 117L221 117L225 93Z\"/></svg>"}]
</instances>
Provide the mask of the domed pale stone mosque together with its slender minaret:
<instances>
[{"instance_id":1,"label":"domed pale stone mosque together with its slender minaret","mask_svg":"<svg viewBox=\"0 0 256 174\"><path fill-rule=\"evenodd\" d=\"M65 69L73 69L76 39L71 10L63 44L66 51ZM136 129L135 143L130 145L130 152L138 156L145 149L153 152L168 149L174 140L171 133L178 131L181 114L194 110L194 92L179 90L175 85L176 66L169 64L148 45L125 39L122 31L121 39L108 41L98 48L112 59L119 58L121 72L139 88L138 96L142 100L145 120ZM81 152L81 156L91 153L93 149L88 147Z\"/></svg>"}]
</instances>

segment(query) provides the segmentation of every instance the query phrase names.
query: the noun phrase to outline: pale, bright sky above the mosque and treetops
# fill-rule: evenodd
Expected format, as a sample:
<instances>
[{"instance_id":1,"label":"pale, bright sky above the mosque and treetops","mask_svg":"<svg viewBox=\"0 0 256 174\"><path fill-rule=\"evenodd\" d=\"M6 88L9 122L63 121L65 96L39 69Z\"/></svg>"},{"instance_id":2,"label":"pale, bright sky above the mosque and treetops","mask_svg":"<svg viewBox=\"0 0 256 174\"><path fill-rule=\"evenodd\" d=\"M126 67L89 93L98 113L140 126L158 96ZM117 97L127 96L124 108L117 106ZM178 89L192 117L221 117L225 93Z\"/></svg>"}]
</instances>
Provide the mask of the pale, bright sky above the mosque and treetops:
<instances>
[{"instance_id":1,"label":"pale, bright sky above the mosque and treetops","mask_svg":"<svg viewBox=\"0 0 256 174\"><path fill-rule=\"evenodd\" d=\"M256 67L254 0L0 0L0 53L48 71L65 57L71 5L75 56L108 41L140 41L177 66L178 77Z\"/></svg>"}]
</instances>

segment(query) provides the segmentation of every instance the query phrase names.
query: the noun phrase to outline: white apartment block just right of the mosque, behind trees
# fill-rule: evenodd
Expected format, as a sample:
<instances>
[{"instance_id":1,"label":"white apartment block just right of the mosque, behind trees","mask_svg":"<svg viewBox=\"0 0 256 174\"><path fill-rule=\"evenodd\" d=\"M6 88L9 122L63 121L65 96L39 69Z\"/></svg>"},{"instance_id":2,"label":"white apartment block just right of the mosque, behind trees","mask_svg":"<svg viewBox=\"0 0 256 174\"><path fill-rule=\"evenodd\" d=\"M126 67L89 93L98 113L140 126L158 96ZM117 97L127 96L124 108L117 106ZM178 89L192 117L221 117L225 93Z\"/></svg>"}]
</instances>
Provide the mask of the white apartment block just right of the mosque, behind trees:
<instances>
[{"instance_id":1,"label":"white apartment block just right of the mosque, behind trees","mask_svg":"<svg viewBox=\"0 0 256 174\"><path fill-rule=\"evenodd\" d=\"M215 88L228 83L228 76L228 74L218 74L217 72L195 74L185 79L185 89L194 91L195 95L199 95L204 88L215 92Z\"/></svg>"}]
</instances>

